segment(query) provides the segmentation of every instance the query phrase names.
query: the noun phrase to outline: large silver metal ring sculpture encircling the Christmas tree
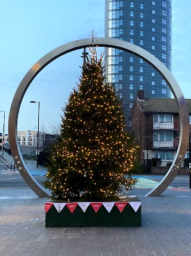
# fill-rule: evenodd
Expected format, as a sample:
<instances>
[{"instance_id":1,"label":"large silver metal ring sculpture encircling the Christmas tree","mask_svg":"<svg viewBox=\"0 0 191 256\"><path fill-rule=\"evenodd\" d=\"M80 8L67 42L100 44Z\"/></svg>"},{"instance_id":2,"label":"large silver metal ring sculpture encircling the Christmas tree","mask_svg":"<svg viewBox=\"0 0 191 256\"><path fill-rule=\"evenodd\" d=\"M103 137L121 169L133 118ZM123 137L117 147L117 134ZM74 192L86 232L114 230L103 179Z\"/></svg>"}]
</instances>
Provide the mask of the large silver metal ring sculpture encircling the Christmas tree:
<instances>
[{"instance_id":1,"label":"large silver metal ring sculpture encircling the Christmas tree","mask_svg":"<svg viewBox=\"0 0 191 256\"><path fill-rule=\"evenodd\" d=\"M39 195L39 197L48 197L47 191L39 185L38 182L32 177L27 169L26 164L24 163L23 157L21 155L19 142L17 138L17 119L20 109L21 101L23 100L24 94L29 87L30 83L33 79L38 75L38 73L46 67L50 62L54 61L58 57L73 52L74 50L82 49L84 47L90 46L90 40L88 38L72 41L67 44L63 44L63 46L57 47L51 52L47 53L44 57L39 59L35 65L27 72L26 76L24 76L21 81L19 87L17 88L16 94L14 95L13 102L11 104L10 116L8 122L8 133L9 133L9 141L11 146L11 152L14 158L14 161L17 165L18 170L20 171L21 176L26 181L26 183L33 189L33 191ZM156 71L166 80L168 86L174 95L175 101L178 105L179 115L180 115L180 140L177 149L177 153L175 155L175 159L172 162L168 173L165 175L164 179L146 196L158 196L161 195L162 192L167 189L167 187L171 184L172 180L174 180L178 171L180 170L181 165L183 164L184 156L187 151L187 144L189 141L189 113L187 110L186 100L184 99L183 93L181 92L178 83L170 73L170 71L159 61L155 56L146 50L135 46L134 44L127 43L125 41L116 40L112 38L97 38L95 43L96 46L101 47L112 47L116 49L121 49L126 52L130 52L133 55L144 59L147 63L152 65Z\"/></svg>"}]
</instances>

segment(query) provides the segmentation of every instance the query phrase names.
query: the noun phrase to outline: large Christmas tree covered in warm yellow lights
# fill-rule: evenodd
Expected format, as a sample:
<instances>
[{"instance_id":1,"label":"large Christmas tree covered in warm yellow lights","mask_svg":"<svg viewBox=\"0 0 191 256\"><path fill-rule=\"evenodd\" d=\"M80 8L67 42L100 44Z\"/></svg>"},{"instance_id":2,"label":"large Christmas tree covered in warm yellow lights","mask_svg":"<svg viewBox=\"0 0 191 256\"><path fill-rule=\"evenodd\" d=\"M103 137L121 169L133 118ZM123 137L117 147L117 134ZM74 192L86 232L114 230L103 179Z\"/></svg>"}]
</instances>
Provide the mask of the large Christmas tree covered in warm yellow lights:
<instances>
[{"instance_id":1,"label":"large Christmas tree covered in warm yellow lights","mask_svg":"<svg viewBox=\"0 0 191 256\"><path fill-rule=\"evenodd\" d=\"M45 188L60 200L119 200L136 179L130 175L137 147L125 130L118 96L104 77L103 55L90 49L82 75L63 108Z\"/></svg>"}]
</instances>

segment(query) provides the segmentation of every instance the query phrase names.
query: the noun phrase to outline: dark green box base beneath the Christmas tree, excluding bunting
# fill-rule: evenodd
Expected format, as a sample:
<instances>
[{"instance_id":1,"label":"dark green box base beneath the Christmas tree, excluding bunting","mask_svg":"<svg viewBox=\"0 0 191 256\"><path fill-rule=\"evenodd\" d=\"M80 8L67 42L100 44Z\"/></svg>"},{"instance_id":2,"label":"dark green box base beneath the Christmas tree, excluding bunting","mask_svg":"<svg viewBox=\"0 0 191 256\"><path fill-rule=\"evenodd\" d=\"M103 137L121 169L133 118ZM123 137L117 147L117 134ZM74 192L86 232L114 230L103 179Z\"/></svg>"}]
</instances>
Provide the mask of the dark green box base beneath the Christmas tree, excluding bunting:
<instances>
[{"instance_id":1,"label":"dark green box base beneath the Christmas tree, excluding bunting","mask_svg":"<svg viewBox=\"0 0 191 256\"><path fill-rule=\"evenodd\" d=\"M127 202L124 210L119 211L116 204L112 207L110 212L101 205L96 213L91 206L88 206L84 212L79 205L76 206L73 213L70 212L67 206L58 213L56 207L51 206L47 213L45 213L46 227L141 227L141 205L137 212L130 205L130 202L140 202L137 197L124 198L122 202ZM58 200L48 200L48 203L68 203ZM72 203L72 202L70 202ZM78 203L78 202L73 202ZM101 202L99 202L101 203ZM119 203L119 202L117 202Z\"/></svg>"}]
</instances>

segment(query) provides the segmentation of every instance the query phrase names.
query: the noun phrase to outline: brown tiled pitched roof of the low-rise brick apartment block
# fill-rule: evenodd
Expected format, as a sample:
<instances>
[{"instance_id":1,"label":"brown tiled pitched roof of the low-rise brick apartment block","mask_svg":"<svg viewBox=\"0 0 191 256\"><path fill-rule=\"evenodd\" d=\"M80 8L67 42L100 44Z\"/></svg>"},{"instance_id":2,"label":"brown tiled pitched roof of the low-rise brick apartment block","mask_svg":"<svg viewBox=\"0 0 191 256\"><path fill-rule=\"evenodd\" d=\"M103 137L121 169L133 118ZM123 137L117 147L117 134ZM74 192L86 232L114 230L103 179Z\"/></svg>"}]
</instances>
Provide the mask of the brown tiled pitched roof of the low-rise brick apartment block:
<instances>
[{"instance_id":1,"label":"brown tiled pitched roof of the low-rise brick apartment block","mask_svg":"<svg viewBox=\"0 0 191 256\"><path fill-rule=\"evenodd\" d=\"M178 105L173 98L144 98L135 99L142 112L151 113L178 113ZM191 99L186 99L187 108L191 114Z\"/></svg>"}]
</instances>

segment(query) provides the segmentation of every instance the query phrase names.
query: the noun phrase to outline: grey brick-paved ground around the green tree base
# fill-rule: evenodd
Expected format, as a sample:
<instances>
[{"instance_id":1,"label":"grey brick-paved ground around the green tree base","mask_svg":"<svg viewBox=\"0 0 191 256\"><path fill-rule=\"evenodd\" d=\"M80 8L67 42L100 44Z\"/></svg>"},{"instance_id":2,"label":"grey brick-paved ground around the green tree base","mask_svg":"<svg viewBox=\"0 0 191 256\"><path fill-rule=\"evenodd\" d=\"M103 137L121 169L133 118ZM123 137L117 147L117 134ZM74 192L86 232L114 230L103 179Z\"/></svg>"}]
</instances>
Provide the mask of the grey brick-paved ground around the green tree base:
<instances>
[{"instance_id":1,"label":"grey brick-paved ground around the green tree base","mask_svg":"<svg viewBox=\"0 0 191 256\"><path fill-rule=\"evenodd\" d=\"M141 200L142 227L45 228L44 204L30 189L0 188L0 255L191 256L191 189L132 192Z\"/></svg>"}]
</instances>

